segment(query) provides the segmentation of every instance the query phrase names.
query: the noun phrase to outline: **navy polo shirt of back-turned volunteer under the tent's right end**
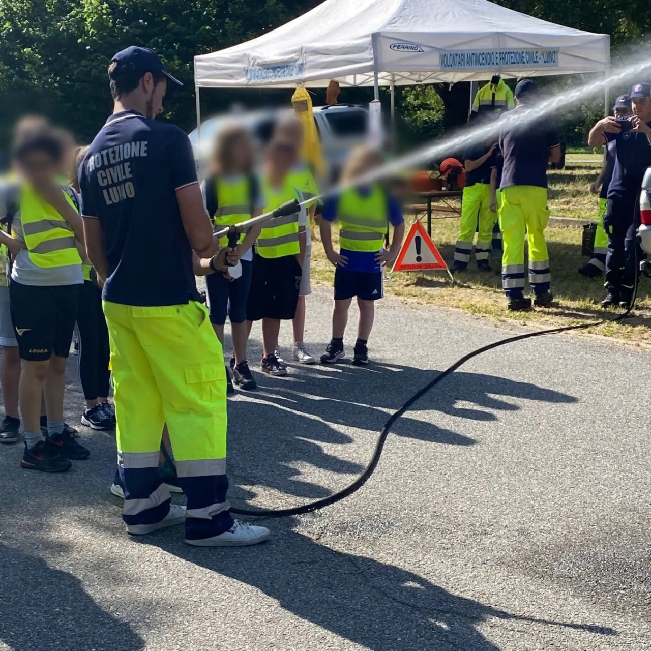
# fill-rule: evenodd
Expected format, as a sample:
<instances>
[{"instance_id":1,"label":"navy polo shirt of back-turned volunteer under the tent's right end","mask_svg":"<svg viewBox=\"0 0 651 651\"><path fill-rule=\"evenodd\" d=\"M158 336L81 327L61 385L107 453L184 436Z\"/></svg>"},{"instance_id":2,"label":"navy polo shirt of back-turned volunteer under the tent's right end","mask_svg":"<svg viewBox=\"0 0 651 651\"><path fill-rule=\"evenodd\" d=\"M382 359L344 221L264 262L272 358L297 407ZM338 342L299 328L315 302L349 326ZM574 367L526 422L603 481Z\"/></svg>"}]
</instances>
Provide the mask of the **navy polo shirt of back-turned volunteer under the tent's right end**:
<instances>
[{"instance_id":1,"label":"navy polo shirt of back-turned volunteer under the tent's right end","mask_svg":"<svg viewBox=\"0 0 651 651\"><path fill-rule=\"evenodd\" d=\"M510 113L527 110L525 106L517 106ZM560 143L559 132L546 120L505 125L499 134L499 147L504 157L499 187L547 187L549 149Z\"/></svg>"}]
</instances>

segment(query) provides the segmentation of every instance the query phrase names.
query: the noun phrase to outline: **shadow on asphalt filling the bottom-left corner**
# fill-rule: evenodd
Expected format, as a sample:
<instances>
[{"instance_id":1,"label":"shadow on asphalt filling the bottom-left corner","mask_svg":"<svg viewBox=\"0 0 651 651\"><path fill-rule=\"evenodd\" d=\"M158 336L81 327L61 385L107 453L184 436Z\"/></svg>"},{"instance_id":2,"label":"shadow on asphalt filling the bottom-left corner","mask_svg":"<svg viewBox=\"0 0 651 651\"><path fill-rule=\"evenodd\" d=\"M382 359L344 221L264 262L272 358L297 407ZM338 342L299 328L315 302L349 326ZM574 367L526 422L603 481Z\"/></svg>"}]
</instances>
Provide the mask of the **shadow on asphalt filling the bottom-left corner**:
<instances>
[{"instance_id":1,"label":"shadow on asphalt filling the bottom-left corner","mask_svg":"<svg viewBox=\"0 0 651 651\"><path fill-rule=\"evenodd\" d=\"M145 641L68 572L0 543L0 643L12 651L138 651Z\"/></svg>"}]
</instances>

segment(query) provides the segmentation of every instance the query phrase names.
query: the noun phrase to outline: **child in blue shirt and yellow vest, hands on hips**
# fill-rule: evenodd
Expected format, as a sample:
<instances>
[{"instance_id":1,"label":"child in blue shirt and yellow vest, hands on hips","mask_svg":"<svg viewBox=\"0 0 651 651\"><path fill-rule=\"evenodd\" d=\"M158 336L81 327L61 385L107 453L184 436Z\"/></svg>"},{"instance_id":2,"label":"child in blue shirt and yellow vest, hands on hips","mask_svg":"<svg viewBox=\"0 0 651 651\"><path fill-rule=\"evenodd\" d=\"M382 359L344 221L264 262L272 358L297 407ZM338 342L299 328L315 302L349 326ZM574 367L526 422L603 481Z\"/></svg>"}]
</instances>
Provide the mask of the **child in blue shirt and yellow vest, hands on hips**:
<instances>
[{"instance_id":1,"label":"child in blue shirt and yellow vest, hands on hips","mask_svg":"<svg viewBox=\"0 0 651 651\"><path fill-rule=\"evenodd\" d=\"M344 184L380 167L380 154L369 146L353 150L343 171ZM339 222L339 245L333 249L331 225ZM384 238L393 226L391 247L385 250ZM357 297L359 321L353 365L368 364L367 342L373 326L375 301L382 298L382 267L396 259L404 237L402 210L394 197L378 183L344 189L328 197L320 222L321 240L328 260L335 265L335 305L332 315L332 339L321 355L324 364L333 364L344 356L344 331L348 309Z\"/></svg>"}]
</instances>

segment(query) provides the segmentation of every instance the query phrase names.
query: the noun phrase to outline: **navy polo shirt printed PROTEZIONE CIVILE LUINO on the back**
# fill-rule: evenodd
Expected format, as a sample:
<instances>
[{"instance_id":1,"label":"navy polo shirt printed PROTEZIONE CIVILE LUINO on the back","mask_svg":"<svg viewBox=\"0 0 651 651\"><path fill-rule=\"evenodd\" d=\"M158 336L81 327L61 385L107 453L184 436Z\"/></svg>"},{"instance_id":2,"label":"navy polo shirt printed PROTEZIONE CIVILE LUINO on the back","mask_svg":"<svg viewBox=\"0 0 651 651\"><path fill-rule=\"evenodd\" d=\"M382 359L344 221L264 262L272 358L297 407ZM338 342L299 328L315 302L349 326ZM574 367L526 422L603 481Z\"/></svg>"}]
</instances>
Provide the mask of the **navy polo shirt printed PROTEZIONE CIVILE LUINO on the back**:
<instances>
[{"instance_id":1,"label":"navy polo shirt printed PROTEZIONE CIVILE LUINO on the back","mask_svg":"<svg viewBox=\"0 0 651 651\"><path fill-rule=\"evenodd\" d=\"M111 115L79 167L83 216L104 230L102 297L124 305L199 299L176 190L197 183L192 147L178 127L136 111Z\"/></svg>"}]
</instances>

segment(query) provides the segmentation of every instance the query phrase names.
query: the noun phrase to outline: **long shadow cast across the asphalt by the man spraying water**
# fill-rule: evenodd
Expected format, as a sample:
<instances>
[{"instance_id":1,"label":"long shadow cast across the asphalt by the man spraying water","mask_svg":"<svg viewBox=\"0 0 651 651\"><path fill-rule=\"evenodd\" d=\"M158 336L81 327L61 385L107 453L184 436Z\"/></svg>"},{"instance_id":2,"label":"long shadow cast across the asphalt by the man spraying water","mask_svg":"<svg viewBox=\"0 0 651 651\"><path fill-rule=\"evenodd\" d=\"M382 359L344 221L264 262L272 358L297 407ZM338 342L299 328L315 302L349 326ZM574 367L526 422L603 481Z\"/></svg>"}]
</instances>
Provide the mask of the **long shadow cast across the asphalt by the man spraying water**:
<instances>
[{"instance_id":1,"label":"long shadow cast across the asphalt by the man spraying water","mask_svg":"<svg viewBox=\"0 0 651 651\"><path fill-rule=\"evenodd\" d=\"M373 651L497 651L478 630L489 618L617 635L602 626L506 613L394 565L334 551L291 527L278 527L270 542L249 549L199 549L171 535L141 542L251 585L290 613ZM210 581L202 589L217 607L221 594ZM321 647L306 640L304 648Z\"/></svg>"}]
</instances>

